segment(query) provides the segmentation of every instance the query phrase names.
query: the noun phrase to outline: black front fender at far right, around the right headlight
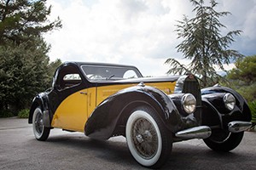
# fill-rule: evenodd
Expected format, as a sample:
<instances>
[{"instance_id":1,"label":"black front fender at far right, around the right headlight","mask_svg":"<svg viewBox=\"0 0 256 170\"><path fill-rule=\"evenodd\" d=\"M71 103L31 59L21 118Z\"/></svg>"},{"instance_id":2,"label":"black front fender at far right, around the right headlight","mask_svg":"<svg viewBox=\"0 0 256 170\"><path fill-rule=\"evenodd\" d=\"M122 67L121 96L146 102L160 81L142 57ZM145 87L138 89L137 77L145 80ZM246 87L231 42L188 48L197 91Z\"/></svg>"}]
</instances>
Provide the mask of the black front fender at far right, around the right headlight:
<instances>
[{"instance_id":1,"label":"black front fender at far right, around the right headlight","mask_svg":"<svg viewBox=\"0 0 256 170\"><path fill-rule=\"evenodd\" d=\"M223 97L227 93L233 94L236 98L236 106L233 111L228 111L224 107ZM227 124L232 121L251 121L252 116L247 101L235 90L214 86L201 89L201 94L203 125L227 128Z\"/></svg>"}]
</instances>

